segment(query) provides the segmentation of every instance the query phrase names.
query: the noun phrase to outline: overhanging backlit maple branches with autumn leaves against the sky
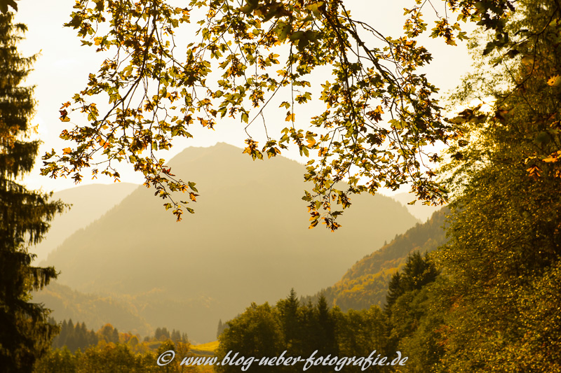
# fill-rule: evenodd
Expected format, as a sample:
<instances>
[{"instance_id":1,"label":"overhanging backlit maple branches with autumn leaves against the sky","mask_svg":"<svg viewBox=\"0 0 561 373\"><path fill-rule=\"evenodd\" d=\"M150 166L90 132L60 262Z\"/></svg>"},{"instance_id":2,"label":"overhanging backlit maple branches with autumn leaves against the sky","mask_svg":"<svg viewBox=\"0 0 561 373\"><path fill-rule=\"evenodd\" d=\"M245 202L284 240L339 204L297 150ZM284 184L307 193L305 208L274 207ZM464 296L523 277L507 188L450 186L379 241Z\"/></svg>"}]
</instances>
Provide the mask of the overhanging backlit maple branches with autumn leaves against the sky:
<instances>
[{"instance_id":1,"label":"overhanging backlit maple branches with autumn leaves against the sky","mask_svg":"<svg viewBox=\"0 0 561 373\"><path fill-rule=\"evenodd\" d=\"M189 126L214 129L228 115L245 127L244 153L254 160L276 156L289 144L313 157L304 176L313 188L303 197L311 227L322 222L337 229L342 211L332 203L345 209L349 195L373 194L381 186L410 183L426 203L442 203L445 190L430 165L440 158L426 146L458 133L442 120L436 87L417 72L432 58L417 43L428 26L421 13L426 6L415 1L406 8L404 34L393 38L351 17L342 0L191 0L186 7L163 0L77 1L66 26L76 29L83 45L113 57L60 108L63 122L76 120L61 137L76 145L62 154L48 152L43 174L72 175L78 182L91 167L94 177L118 179L116 163L130 162L156 195L170 198L164 206L179 220L182 206L194 212L186 205L196 201L198 190L173 175L156 153L177 137L191 137ZM462 21L503 35L513 9L505 0L447 0L444 6L457 12L457 22L437 14L431 36L452 45L466 38ZM177 35L191 22L196 36L182 48ZM297 104L311 101L314 74L325 76L328 69L319 97L325 110L306 125ZM264 113L279 103L287 126L276 136L267 132L271 121ZM87 125L79 124L79 113ZM260 121L262 146L255 129ZM341 181L346 190L336 186ZM174 200L177 191L189 199Z\"/></svg>"}]
</instances>

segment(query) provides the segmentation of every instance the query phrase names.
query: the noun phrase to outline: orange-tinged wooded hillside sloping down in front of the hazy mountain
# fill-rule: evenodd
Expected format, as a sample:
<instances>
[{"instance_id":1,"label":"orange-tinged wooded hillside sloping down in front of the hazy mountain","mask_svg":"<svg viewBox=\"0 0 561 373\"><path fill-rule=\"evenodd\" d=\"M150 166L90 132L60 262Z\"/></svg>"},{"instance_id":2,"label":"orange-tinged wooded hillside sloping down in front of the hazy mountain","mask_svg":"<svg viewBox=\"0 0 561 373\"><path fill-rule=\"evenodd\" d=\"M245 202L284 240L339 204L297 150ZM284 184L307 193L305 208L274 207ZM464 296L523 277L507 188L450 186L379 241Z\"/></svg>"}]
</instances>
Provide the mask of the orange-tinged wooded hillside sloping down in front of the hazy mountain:
<instances>
[{"instance_id":1,"label":"orange-tinged wooded hillside sloping down in front of the hazy mountain","mask_svg":"<svg viewBox=\"0 0 561 373\"><path fill-rule=\"evenodd\" d=\"M446 207L440 209L426 223L417 224L404 234L397 235L389 244L384 244L378 251L356 262L333 286L312 297L305 297L304 302L315 302L323 294L327 302L339 306L343 311L365 309L372 304L383 307L388 282L405 265L407 255L412 251L433 251L446 243L443 227L447 211Z\"/></svg>"}]
</instances>

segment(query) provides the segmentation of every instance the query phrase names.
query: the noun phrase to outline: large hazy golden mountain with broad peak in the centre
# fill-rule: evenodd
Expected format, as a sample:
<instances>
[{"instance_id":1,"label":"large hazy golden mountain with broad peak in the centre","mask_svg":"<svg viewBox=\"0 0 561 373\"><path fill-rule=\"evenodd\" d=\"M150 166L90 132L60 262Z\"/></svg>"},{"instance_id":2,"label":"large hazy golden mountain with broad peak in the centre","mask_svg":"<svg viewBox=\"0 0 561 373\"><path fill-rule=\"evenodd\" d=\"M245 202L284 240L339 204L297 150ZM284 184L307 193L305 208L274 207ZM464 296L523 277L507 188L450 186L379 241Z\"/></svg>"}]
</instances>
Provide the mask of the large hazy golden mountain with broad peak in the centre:
<instances>
[{"instance_id":1,"label":"large hazy golden mountain with broad peak in the centre","mask_svg":"<svg viewBox=\"0 0 561 373\"><path fill-rule=\"evenodd\" d=\"M391 198L361 195L337 232L309 230L302 164L253 162L224 143L187 148L169 165L197 183L194 215L176 223L154 190L138 188L47 262L62 272L62 285L131 297L148 323L198 342L214 339L218 320L250 302L325 288L356 258L418 222Z\"/></svg>"}]
</instances>

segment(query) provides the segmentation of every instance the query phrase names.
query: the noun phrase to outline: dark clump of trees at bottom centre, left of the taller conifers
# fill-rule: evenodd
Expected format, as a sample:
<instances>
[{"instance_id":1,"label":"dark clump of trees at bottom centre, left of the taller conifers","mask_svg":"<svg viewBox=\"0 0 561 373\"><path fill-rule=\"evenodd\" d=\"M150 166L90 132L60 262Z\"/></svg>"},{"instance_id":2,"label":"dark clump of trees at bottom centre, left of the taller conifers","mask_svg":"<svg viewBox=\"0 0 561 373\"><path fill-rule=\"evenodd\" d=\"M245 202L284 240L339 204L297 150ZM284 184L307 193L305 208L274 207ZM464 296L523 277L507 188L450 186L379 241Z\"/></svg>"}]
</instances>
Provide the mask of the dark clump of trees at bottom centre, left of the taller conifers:
<instances>
[{"instance_id":1,"label":"dark clump of trees at bottom centre, left of the taller conifers","mask_svg":"<svg viewBox=\"0 0 561 373\"><path fill-rule=\"evenodd\" d=\"M294 290L275 307L269 304L251 304L243 314L227 323L219 337L218 359L229 351L238 356L257 358L250 366L250 372L302 372L303 362L288 365L259 365L261 358L308 358L317 351L316 358L323 356L330 360L334 356L357 358L369 356L372 351L386 353L386 318L379 307L361 311L350 310L343 313L337 307L327 306L325 297L319 297L316 304L302 304ZM231 356L230 356L231 358ZM220 365L218 372L235 372L236 365ZM310 372L333 372L334 367L314 365ZM357 365L346 365L349 372L360 372ZM306 371L308 371L306 370Z\"/></svg>"}]
</instances>

